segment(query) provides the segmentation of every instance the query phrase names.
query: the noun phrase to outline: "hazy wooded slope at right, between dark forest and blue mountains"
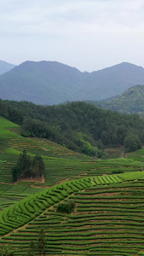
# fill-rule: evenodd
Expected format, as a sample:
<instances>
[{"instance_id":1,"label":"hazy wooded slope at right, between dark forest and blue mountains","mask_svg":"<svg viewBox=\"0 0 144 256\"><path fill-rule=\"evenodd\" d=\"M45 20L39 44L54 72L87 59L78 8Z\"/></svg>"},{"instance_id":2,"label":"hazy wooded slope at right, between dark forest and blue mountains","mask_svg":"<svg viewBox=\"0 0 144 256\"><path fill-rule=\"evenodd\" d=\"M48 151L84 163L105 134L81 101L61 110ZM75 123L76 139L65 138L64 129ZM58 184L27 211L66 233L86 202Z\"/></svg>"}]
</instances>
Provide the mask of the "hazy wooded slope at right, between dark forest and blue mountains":
<instances>
[{"instance_id":1,"label":"hazy wooded slope at right, between dark forest and blue mountains","mask_svg":"<svg viewBox=\"0 0 144 256\"><path fill-rule=\"evenodd\" d=\"M98 108L110 109L121 113L141 113L144 115L144 85L135 85L120 96L106 102L88 101Z\"/></svg>"}]
</instances>

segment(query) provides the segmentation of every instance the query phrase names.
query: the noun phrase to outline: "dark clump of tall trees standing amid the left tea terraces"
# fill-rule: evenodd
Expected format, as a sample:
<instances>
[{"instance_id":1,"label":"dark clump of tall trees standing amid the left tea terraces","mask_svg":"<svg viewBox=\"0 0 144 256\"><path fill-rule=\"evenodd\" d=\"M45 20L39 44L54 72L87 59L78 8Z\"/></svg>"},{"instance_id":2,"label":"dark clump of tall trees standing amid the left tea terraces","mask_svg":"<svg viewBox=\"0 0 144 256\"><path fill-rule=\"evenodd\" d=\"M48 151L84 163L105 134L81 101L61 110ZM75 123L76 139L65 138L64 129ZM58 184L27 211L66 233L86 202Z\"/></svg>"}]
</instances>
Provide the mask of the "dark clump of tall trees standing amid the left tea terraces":
<instances>
[{"instance_id":1,"label":"dark clump of tall trees standing amid the left tea terraces","mask_svg":"<svg viewBox=\"0 0 144 256\"><path fill-rule=\"evenodd\" d=\"M17 160L16 166L12 168L13 182L17 181L19 178L43 177L44 171L45 166L43 158L37 154L32 160L30 156L26 154L26 149L24 149Z\"/></svg>"}]
</instances>

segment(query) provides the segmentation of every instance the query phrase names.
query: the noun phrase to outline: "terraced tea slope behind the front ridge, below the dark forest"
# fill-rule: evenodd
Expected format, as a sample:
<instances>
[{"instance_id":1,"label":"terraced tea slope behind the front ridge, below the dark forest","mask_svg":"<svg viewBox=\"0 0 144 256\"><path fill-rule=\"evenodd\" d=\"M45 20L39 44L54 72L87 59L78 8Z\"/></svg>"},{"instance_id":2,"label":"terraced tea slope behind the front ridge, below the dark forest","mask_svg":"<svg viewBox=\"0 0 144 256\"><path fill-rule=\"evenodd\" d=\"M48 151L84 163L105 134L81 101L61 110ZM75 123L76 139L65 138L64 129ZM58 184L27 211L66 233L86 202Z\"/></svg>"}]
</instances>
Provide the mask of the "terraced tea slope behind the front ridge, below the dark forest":
<instances>
[{"instance_id":1,"label":"terraced tea slope behind the front ridge, below the dark forest","mask_svg":"<svg viewBox=\"0 0 144 256\"><path fill-rule=\"evenodd\" d=\"M132 159L95 160L46 139L20 136L20 126L0 118L0 183L12 183L11 168L26 149L33 158L41 154L46 166L44 185L85 176L141 170L141 161ZM143 160L143 159L142 159Z\"/></svg>"}]
</instances>

